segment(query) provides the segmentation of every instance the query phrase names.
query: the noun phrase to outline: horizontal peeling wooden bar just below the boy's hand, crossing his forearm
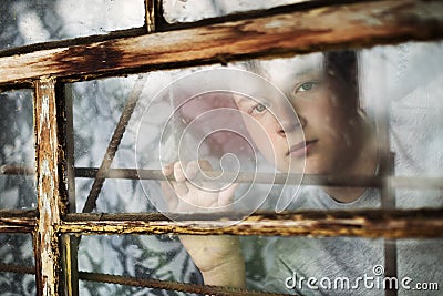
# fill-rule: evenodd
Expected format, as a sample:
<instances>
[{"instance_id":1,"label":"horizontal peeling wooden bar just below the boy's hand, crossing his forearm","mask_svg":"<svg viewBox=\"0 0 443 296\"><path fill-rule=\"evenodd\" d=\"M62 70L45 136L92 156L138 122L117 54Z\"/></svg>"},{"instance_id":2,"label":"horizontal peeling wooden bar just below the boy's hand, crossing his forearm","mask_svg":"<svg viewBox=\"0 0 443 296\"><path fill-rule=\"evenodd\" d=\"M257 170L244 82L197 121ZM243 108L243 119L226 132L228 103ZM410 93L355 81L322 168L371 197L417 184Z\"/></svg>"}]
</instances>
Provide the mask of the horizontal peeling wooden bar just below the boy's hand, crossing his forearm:
<instances>
[{"instance_id":1,"label":"horizontal peeling wooden bar just below the boy's hand, crossing his forearm","mask_svg":"<svg viewBox=\"0 0 443 296\"><path fill-rule=\"evenodd\" d=\"M174 221L162 220L159 214L68 214L58 226L58 231L73 234L431 238L443 237L443 208L305 211L245 214L244 216L241 213L209 213L183 215Z\"/></svg>"}]
</instances>

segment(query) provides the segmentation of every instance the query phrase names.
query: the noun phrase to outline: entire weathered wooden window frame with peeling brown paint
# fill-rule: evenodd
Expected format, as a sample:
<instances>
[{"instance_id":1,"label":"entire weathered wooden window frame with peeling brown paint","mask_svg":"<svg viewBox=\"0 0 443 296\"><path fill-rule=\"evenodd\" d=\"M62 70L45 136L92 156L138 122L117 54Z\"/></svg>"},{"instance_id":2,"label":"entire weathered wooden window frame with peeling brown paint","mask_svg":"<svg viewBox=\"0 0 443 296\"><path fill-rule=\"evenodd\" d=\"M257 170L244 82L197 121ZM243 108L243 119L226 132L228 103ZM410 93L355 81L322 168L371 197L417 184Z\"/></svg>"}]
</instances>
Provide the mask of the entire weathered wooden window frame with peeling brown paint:
<instances>
[{"instance_id":1,"label":"entire weathered wooden window frame with peeling brown paint","mask_svg":"<svg viewBox=\"0 0 443 296\"><path fill-rule=\"evenodd\" d=\"M75 170L70 165L72 139L70 106L63 84L102 76L126 75L158 69L175 69L209 63L225 64L249 58L270 58L308 53L336 48L360 48L410 40L443 38L443 2L420 1L312 1L301 4L196 23L166 24L159 1L146 0L146 28L110 37L42 43L0 51L0 90L33 88L35 126L37 211L0 211L0 232L31 233L34 241L38 295L76 295L75 239L60 234L236 234L236 235L313 235L361 237L443 237L443 210L389 208L390 165L382 167L382 178L364 181L380 185L388 197L388 210L350 212L257 213L228 227L229 218L208 221L189 215L172 222L158 214L75 214L70 213ZM0 102L1 103L1 102ZM66 123L68 122L68 123ZM388 140L387 140L388 141ZM389 151L384 162L390 162ZM80 169L78 169L80 170ZM89 170L95 177L94 169ZM123 172L124 173L124 172ZM106 172L110 174L110 172ZM106 175L105 175L106 176ZM123 174L123 177L128 177ZM322 180L322 181L321 181ZM321 178L321 182L338 182ZM71 184L66 186L64 182ZM358 183L358 182L357 182ZM441 178L418 182L440 187ZM426 185L424 185L426 186ZM65 190L68 187L68 190ZM71 201L70 207L66 201ZM277 223L276 221L279 221ZM68 236L69 237L69 236ZM61 257L62 252L62 257ZM68 255L66 255L68 254ZM71 266L71 267L69 267ZM0 266L2 267L2 266ZM30 272L17 266L3 266ZM14 269L16 268L16 269ZM72 267L74 268L74 267ZM59 284L63 277L64 285ZM79 277L87 277L80 274ZM91 276L90 276L91 278ZM95 276L100 278L100 276ZM111 279L110 282L117 280ZM103 278L102 278L103 279ZM69 283L73 280L73 283ZM97 279L99 280L99 279ZM136 279L134 279L136 280ZM123 283L134 283L130 279ZM158 283L157 283L158 284ZM142 285L142 284L141 284ZM146 285L156 285L155 283ZM174 283L166 288L177 287ZM244 292L200 286L202 293L243 295ZM182 289L183 290L183 289ZM249 294L250 295L250 294Z\"/></svg>"}]
</instances>

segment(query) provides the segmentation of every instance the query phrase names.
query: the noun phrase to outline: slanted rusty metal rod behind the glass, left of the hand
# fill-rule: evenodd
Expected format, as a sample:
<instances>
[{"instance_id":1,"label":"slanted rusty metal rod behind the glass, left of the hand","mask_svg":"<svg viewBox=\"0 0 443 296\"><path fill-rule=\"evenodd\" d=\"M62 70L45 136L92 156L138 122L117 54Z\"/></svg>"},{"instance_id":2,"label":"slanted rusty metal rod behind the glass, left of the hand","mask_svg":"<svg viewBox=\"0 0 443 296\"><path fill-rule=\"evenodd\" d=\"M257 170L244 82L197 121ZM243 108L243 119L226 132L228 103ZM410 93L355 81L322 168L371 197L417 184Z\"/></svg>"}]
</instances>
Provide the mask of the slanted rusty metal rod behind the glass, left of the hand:
<instances>
[{"instance_id":1,"label":"slanted rusty metal rod behind the glass, left of the hand","mask_svg":"<svg viewBox=\"0 0 443 296\"><path fill-rule=\"evenodd\" d=\"M100 191L102 190L103 183L106 180L105 174L110 169L112 161L114 160L115 153L119 150L120 142L122 141L123 134L126 131L127 123L131 120L132 113L134 112L135 105L137 104L140 94L142 93L145 82L146 75L142 75L135 81L135 85L131 92L130 98L126 101L126 104L123 109L122 115L120 116L117 126L114 130L110 144L107 145L106 153L102 160L102 164L96 172L94 183L92 184L92 188L82 211L83 213L90 213L96 206L96 200L99 198Z\"/></svg>"}]
</instances>

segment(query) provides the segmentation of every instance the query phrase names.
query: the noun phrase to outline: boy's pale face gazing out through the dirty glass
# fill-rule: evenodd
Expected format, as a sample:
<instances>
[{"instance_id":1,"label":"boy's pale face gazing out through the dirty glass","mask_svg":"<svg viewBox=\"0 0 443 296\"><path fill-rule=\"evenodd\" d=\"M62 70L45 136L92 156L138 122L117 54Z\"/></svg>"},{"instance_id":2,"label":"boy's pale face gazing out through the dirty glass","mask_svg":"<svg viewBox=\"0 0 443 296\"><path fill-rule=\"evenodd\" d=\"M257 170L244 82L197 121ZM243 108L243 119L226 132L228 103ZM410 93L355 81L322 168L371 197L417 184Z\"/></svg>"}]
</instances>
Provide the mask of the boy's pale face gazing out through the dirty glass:
<instances>
[{"instance_id":1,"label":"boy's pale face gazing out through the dirty glass","mask_svg":"<svg viewBox=\"0 0 443 296\"><path fill-rule=\"evenodd\" d=\"M289 100L236 96L260 152L282 172L344 173L359 151L357 98L349 84L324 71L321 54L265 61L260 68Z\"/></svg>"}]
</instances>

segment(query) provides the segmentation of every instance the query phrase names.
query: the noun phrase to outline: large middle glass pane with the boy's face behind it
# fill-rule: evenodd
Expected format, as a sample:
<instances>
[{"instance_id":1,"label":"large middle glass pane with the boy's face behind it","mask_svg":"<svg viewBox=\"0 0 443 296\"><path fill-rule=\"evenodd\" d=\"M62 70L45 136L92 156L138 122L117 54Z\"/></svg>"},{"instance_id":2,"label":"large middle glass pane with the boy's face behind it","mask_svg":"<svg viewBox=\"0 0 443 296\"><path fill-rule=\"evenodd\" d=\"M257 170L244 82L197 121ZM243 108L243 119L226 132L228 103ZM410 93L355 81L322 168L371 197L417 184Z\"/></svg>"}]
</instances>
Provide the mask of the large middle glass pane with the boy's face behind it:
<instances>
[{"instance_id":1,"label":"large middle glass pane with the boy's face behind it","mask_svg":"<svg viewBox=\"0 0 443 296\"><path fill-rule=\"evenodd\" d=\"M441 177L439 52L441 43L404 43L74 83L75 166L112 159L106 147L135 98L111 164L133 178L106 180L99 212L379 207L377 187L328 187L301 175L380 176L388 131L396 176ZM92 183L78 175L78 211ZM436 183L415 187L419 195L399 191L398 204L441 206Z\"/></svg>"}]
</instances>

